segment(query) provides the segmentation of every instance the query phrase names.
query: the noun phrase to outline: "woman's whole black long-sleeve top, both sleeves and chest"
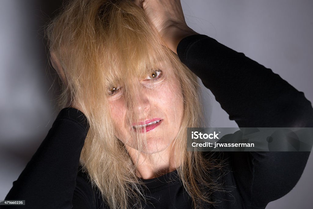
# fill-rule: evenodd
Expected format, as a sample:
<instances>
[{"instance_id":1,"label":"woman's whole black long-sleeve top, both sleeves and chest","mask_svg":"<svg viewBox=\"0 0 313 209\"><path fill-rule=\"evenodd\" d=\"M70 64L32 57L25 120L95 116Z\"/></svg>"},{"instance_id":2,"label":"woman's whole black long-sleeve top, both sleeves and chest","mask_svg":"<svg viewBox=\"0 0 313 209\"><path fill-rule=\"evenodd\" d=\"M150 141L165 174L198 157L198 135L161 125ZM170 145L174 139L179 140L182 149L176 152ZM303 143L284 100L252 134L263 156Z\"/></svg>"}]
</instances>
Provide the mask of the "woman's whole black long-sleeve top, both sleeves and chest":
<instances>
[{"instance_id":1,"label":"woman's whole black long-sleeve top, both sleeves and chest","mask_svg":"<svg viewBox=\"0 0 313 209\"><path fill-rule=\"evenodd\" d=\"M313 127L313 109L302 92L243 53L206 35L192 35L177 47L180 60L214 94L239 127ZM79 158L88 132L85 115L61 110L33 158L6 200L25 200L26 206L3 208L108 208ZM298 182L310 152L223 152L226 172L215 191L216 205L206 208L261 209L287 194ZM213 153L213 156L215 154ZM171 181L169 181L171 179ZM145 208L191 208L177 171L142 180L149 192Z\"/></svg>"}]
</instances>

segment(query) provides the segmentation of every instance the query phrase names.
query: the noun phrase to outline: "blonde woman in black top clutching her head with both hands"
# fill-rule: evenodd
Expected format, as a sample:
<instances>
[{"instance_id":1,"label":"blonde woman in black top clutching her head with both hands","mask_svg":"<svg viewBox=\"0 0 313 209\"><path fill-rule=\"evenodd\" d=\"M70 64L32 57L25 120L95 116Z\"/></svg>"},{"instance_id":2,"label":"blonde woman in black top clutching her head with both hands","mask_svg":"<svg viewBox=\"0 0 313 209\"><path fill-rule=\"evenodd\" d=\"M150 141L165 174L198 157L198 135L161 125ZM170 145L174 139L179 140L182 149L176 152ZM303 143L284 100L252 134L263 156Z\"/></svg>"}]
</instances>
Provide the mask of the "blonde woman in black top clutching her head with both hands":
<instances>
[{"instance_id":1,"label":"blonde woman in black top clutching her head with both hands","mask_svg":"<svg viewBox=\"0 0 313 209\"><path fill-rule=\"evenodd\" d=\"M299 180L309 152L187 151L187 127L204 126L195 75L239 127L311 127L313 110L270 69L190 29L179 1L72 1L48 39L64 109L7 200L265 208Z\"/></svg>"}]
</instances>

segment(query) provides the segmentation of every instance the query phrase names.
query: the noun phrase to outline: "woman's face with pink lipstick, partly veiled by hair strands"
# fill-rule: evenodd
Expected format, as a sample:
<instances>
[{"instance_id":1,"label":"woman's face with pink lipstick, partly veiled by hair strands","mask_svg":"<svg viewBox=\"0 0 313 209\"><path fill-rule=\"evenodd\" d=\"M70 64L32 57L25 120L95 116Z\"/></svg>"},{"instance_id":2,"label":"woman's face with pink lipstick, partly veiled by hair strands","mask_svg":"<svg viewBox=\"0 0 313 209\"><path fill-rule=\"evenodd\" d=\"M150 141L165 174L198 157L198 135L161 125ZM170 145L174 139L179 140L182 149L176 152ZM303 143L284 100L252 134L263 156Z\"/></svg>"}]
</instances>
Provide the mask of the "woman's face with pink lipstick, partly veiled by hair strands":
<instances>
[{"instance_id":1,"label":"woman's face with pink lipstick, partly veiled by hair strands","mask_svg":"<svg viewBox=\"0 0 313 209\"><path fill-rule=\"evenodd\" d=\"M162 66L162 65L161 65ZM137 105L129 109L125 99L125 88L109 88L109 105L117 138L126 148L143 153L157 153L165 150L177 136L183 116L181 85L173 69L163 65L152 70L145 78L133 80ZM131 115L138 115L137 121L130 121ZM141 140L138 147L136 134Z\"/></svg>"}]
</instances>

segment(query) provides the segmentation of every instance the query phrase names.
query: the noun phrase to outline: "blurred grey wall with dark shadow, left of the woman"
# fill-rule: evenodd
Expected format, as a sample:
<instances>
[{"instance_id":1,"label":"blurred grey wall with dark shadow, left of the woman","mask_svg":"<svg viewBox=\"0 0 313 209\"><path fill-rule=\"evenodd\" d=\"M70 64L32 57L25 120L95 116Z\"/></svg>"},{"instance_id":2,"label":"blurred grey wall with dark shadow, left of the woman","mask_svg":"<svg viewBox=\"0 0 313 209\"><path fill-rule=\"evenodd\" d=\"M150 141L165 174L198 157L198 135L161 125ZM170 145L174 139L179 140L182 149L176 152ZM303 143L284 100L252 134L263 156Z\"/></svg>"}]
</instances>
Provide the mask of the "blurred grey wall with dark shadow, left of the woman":
<instances>
[{"instance_id":1,"label":"blurred grey wall with dark shadow, left of the woman","mask_svg":"<svg viewBox=\"0 0 313 209\"><path fill-rule=\"evenodd\" d=\"M61 0L1 2L0 199L47 135L60 93L48 60L44 26Z\"/></svg>"}]
</instances>

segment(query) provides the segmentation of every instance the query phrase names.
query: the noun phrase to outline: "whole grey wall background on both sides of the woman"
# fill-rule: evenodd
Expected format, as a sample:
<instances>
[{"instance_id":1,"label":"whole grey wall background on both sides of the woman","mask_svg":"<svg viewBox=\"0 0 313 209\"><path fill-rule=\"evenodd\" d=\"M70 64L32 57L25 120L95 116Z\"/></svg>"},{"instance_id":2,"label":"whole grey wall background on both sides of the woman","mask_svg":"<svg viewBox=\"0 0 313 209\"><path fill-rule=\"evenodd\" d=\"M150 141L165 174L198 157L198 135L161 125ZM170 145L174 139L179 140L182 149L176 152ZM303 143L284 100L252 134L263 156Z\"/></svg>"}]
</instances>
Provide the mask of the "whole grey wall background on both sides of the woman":
<instances>
[{"instance_id":1,"label":"whole grey wall background on both sides of the woman","mask_svg":"<svg viewBox=\"0 0 313 209\"><path fill-rule=\"evenodd\" d=\"M55 119L54 71L40 28L59 1L0 1L0 200ZM310 0L182 1L187 24L271 68L313 101L313 2ZM208 126L237 127L203 89ZM313 157L286 196L267 209L313 205Z\"/></svg>"}]
</instances>

